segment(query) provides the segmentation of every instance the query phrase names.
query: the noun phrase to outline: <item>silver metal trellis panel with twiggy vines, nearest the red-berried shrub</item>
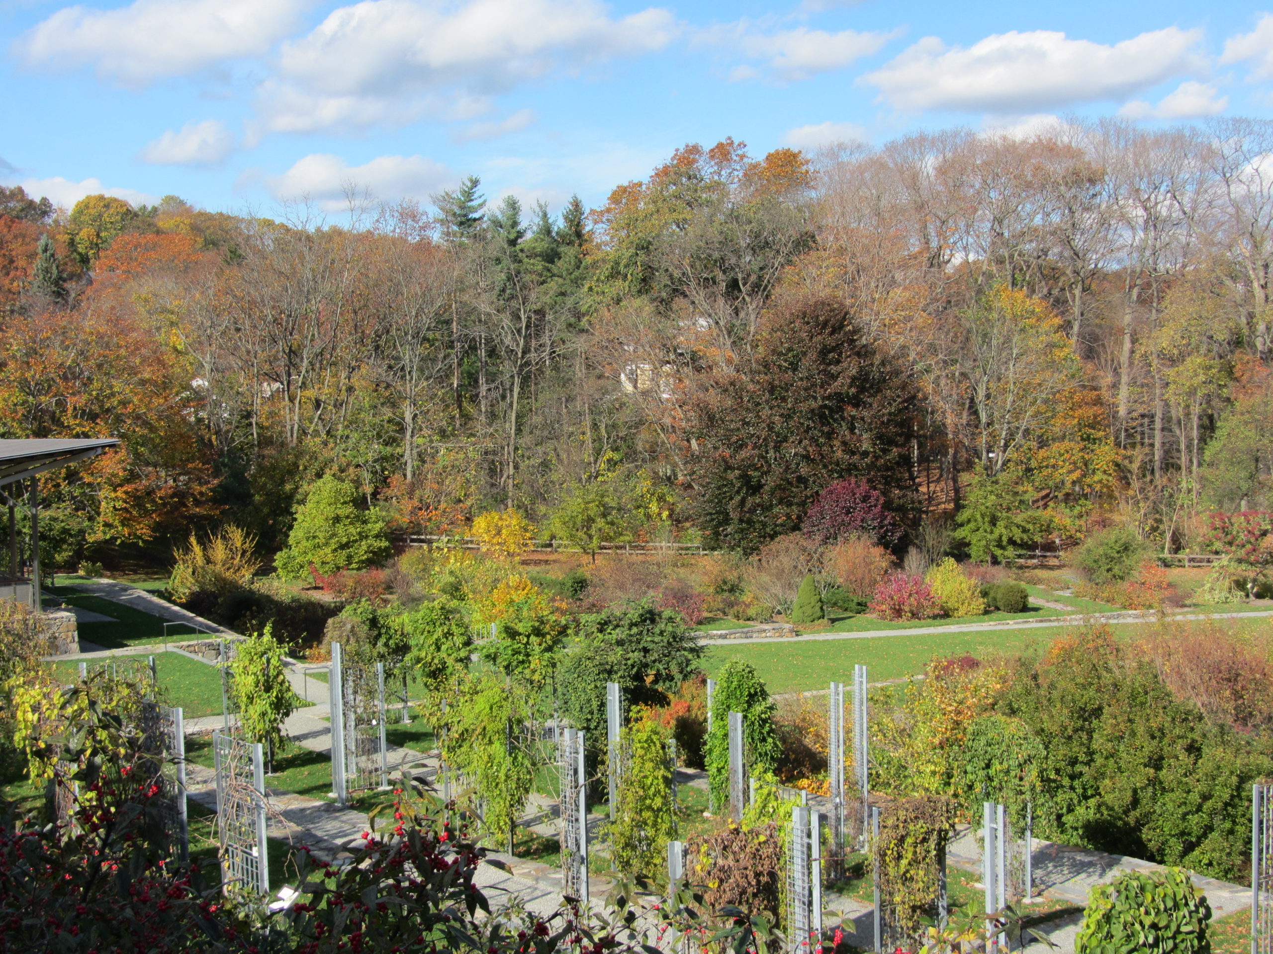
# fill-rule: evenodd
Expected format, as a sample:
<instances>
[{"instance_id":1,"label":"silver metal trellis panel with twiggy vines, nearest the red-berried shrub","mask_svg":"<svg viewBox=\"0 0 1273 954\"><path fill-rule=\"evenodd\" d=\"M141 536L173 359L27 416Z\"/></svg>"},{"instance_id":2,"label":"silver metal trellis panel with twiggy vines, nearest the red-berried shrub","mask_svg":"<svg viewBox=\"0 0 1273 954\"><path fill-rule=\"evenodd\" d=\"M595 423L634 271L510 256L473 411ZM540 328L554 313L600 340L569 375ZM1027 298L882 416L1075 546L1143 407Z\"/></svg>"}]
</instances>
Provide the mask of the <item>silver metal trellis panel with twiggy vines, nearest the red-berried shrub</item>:
<instances>
[{"instance_id":1,"label":"silver metal trellis panel with twiggy vines, nearest the red-berried shrub","mask_svg":"<svg viewBox=\"0 0 1273 954\"><path fill-rule=\"evenodd\" d=\"M269 894L270 859L265 838L265 759L261 743L213 733L216 764L218 855L222 888Z\"/></svg>"}]
</instances>

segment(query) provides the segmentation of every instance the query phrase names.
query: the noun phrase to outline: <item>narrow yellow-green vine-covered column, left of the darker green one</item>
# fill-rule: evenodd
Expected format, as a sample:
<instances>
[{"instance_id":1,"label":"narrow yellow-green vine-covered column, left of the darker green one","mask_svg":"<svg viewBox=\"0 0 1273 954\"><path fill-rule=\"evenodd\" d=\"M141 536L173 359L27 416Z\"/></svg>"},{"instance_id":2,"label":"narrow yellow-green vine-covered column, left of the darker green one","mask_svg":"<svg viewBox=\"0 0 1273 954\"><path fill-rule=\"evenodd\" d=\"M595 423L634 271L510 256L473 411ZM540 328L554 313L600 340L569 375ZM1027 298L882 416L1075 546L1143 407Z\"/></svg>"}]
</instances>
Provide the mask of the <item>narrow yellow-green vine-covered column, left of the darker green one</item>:
<instances>
[{"instance_id":1,"label":"narrow yellow-green vine-covered column, left of the darker green one","mask_svg":"<svg viewBox=\"0 0 1273 954\"><path fill-rule=\"evenodd\" d=\"M667 733L647 709L622 730L619 744L624 771L608 828L611 857L625 875L653 876L663 869L667 842L676 834Z\"/></svg>"}]
</instances>

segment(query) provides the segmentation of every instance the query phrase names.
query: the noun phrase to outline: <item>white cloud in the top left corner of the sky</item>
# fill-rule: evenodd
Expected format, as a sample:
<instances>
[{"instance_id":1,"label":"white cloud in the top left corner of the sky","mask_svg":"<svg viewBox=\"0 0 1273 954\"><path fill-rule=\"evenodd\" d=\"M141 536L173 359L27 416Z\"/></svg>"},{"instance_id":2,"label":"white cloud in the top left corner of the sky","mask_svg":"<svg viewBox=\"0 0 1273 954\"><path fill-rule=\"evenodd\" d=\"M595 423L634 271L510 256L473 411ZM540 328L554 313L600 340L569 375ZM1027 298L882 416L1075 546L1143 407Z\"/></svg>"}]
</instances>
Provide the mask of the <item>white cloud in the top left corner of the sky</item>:
<instances>
[{"instance_id":1,"label":"white cloud in the top left corner of the sky","mask_svg":"<svg viewBox=\"0 0 1273 954\"><path fill-rule=\"evenodd\" d=\"M67 6L15 45L29 64L95 62L144 85L223 60L258 56L295 25L307 0L134 0L116 10Z\"/></svg>"}]
</instances>

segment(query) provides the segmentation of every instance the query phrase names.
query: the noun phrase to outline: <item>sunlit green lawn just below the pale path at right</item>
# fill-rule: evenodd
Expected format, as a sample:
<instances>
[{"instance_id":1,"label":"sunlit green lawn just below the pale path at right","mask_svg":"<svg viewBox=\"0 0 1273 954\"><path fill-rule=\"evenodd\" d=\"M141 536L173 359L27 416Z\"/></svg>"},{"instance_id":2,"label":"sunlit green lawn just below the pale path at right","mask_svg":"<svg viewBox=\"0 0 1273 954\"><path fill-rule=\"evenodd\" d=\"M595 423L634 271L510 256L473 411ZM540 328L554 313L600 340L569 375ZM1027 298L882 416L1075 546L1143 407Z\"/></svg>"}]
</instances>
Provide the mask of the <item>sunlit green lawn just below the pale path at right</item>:
<instances>
[{"instance_id":1,"label":"sunlit green lawn just below the pale path at right","mask_svg":"<svg viewBox=\"0 0 1273 954\"><path fill-rule=\"evenodd\" d=\"M1251 621L1220 621L1234 627L1268 627L1265 617ZM1207 627L1212 621L1183 622L1184 627ZM1155 623L1115 623L1116 637L1148 636ZM827 683L850 682L858 663L869 669L871 682L919 675L933 659L971 653L975 656L1015 655L1040 650L1058 636L1072 636L1074 626L1036 630L981 630L917 636L877 636L845 640L757 642L738 646L704 646L703 668L714 677L729 659L751 663L771 693L825 689Z\"/></svg>"}]
</instances>

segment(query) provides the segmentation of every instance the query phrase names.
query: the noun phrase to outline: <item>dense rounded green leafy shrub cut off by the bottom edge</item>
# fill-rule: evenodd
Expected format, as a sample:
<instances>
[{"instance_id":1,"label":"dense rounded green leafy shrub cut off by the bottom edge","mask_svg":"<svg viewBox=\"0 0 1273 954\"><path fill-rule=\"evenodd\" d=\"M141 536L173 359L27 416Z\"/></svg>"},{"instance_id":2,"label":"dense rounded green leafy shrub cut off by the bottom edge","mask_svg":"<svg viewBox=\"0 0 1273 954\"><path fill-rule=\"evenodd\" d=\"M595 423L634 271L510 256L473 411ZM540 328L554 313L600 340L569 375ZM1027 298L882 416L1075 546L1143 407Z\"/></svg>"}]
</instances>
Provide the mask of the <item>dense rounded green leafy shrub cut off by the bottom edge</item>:
<instances>
[{"instance_id":1,"label":"dense rounded green leafy shrub cut off by the bottom edge","mask_svg":"<svg viewBox=\"0 0 1273 954\"><path fill-rule=\"evenodd\" d=\"M1127 871L1087 899L1076 954L1211 954L1211 906L1189 873Z\"/></svg>"}]
</instances>

